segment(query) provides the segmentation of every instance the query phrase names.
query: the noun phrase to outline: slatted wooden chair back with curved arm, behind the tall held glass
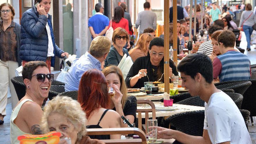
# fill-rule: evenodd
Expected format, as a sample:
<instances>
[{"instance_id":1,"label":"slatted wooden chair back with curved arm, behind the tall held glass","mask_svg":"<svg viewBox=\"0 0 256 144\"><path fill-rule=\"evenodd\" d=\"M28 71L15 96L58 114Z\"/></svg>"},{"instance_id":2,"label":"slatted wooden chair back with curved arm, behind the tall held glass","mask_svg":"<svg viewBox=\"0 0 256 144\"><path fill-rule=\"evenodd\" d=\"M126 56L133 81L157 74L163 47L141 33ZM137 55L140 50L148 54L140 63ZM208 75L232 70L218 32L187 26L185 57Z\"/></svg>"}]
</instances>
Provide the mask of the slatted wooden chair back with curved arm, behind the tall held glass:
<instances>
[{"instance_id":1,"label":"slatted wooden chair back with curved arm, behind the tall held glass","mask_svg":"<svg viewBox=\"0 0 256 144\"><path fill-rule=\"evenodd\" d=\"M142 117L141 113L145 113L145 125L146 125L146 133L147 133L147 120L149 119L148 113L152 112L152 119L156 119L156 107L153 102L150 100L144 99L144 100L137 100L137 104L149 104L151 106L151 109L137 109L138 113L138 128L142 129Z\"/></svg>"}]
</instances>

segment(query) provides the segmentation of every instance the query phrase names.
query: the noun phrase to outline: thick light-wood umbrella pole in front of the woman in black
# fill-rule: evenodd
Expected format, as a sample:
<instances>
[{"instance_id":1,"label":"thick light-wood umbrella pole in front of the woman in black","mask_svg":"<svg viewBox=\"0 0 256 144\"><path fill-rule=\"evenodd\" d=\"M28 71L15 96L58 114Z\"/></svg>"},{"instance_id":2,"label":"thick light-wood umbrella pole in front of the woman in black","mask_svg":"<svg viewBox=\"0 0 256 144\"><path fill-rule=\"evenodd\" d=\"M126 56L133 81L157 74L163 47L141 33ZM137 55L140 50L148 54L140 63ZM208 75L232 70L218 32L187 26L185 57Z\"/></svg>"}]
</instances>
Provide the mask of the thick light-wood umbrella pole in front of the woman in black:
<instances>
[{"instance_id":1,"label":"thick light-wood umbrella pole in front of the woman in black","mask_svg":"<svg viewBox=\"0 0 256 144\"><path fill-rule=\"evenodd\" d=\"M176 3L176 4L174 4ZM173 0L173 6L176 6L177 11L177 0ZM175 9L173 8L173 12ZM177 17L173 17L177 19ZM169 79L169 0L164 0L164 91L170 93L170 79ZM176 58L177 59L177 58Z\"/></svg>"}]
</instances>

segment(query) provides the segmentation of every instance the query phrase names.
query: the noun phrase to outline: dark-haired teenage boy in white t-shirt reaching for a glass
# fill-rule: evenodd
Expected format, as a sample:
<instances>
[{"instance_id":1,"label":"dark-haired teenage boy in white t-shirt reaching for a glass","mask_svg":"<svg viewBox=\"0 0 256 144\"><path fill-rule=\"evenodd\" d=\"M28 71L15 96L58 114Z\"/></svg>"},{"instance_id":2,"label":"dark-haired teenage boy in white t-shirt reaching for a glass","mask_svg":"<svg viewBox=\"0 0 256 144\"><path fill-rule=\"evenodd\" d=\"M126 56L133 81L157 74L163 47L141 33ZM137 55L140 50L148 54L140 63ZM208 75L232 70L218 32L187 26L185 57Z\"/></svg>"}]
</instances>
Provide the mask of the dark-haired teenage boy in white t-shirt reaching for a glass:
<instances>
[{"instance_id":1,"label":"dark-haired teenage boy in white t-shirt reaching for a glass","mask_svg":"<svg viewBox=\"0 0 256 144\"><path fill-rule=\"evenodd\" d=\"M192 96L199 95L205 101L203 136L191 136L180 131L157 127L157 138L174 138L181 143L197 144L251 144L243 116L234 101L213 83L213 67L205 54L191 54L177 67L182 87Z\"/></svg>"}]
</instances>

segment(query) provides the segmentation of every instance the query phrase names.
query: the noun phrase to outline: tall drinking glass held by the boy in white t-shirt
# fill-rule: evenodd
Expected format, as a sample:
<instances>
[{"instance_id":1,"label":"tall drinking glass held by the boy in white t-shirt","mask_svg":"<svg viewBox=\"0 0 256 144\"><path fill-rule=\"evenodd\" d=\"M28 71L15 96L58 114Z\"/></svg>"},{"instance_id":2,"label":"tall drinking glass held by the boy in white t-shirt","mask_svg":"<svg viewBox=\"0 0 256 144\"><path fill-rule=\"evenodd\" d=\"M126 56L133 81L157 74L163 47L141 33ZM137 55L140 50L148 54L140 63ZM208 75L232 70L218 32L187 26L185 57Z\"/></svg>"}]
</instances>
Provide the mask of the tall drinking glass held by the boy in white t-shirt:
<instances>
[{"instance_id":1,"label":"tall drinking glass held by the boy in white t-shirt","mask_svg":"<svg viewBox=\"0 0 256 144\"><path fill-rule=\"evenodd\" d=\"M157 120L147 120L147 132L148 132L148 143L154 143L157 141ZM152 127L156 126L156 127Z\"/></svg>"}]
</instances>

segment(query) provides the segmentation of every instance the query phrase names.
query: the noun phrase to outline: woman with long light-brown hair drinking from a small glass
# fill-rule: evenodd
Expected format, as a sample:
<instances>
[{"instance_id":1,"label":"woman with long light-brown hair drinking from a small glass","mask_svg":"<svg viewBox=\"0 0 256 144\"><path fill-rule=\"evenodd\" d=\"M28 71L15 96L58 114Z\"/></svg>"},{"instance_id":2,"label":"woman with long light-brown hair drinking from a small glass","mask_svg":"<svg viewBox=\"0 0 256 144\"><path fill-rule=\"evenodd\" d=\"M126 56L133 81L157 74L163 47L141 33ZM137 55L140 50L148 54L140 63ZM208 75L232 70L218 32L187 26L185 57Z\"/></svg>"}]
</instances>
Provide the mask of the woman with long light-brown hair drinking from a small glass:
<instances>
[{"instance_id":1,"label":"woman with long light-brown hair drinking from a small glass","mask_svg":"<svg viewBox=\"0 0 256 144\"><path fill-rule=\"evenodd\" d=\"M126 84L122 71L115 65L110 65L102 70L105 75L108 86L113 87L115 95L111 98L110 109L119 113L134 123L137 110L137 99L134 96L127 95ZM128 127L127 124L121 122L121 127Z\"/></svg>"}]
</instances>

